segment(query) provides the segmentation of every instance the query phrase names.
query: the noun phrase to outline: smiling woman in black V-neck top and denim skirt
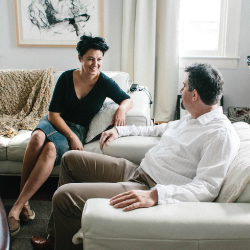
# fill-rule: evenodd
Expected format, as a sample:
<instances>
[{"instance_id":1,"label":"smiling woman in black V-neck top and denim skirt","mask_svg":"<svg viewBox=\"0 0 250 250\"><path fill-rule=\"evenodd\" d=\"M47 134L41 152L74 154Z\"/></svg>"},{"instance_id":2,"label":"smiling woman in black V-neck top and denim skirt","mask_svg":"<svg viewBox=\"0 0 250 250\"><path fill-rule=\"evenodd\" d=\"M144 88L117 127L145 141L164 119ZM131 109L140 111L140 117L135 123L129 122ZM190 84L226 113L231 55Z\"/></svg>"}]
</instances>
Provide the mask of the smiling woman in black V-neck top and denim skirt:
<instances>
[{"instance_id":1,"label":"smiling woman in black V-neck top and denim skirt","mask_svg":"<svg viewBox=\"0 0 250 250\"><path fill-rule=\"evenodd\" d=\"M26 148L21 192L8 215L12 236L19 232L20 220L35 218L28 201L47 180L53 166L60 163L61 156L70 149L83 150L89 123L105 98L120 105L112 120L114 126L125 125L126 112L132 107L129 95L99 71L109 49L105 40L83 35L76 49L81 67L59 77L48 115L40 120Z\"/></svg>"}]
</instances>

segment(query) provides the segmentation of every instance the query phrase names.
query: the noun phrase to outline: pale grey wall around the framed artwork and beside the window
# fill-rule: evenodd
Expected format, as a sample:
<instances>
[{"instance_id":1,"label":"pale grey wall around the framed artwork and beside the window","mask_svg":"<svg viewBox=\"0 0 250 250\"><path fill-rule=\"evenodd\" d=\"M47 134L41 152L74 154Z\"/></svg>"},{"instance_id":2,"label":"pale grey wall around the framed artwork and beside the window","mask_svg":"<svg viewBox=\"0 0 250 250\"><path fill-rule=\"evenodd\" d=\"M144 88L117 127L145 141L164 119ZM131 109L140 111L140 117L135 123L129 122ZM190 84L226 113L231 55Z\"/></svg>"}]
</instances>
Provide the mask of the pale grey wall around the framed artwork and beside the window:
<instances>
[{"instance_id":1,"label":"pale grey wall around the framed artwork and beside the window","mask_svg":"<svg viewBox=\"0 0 250 250\"><path fill-rule=\"evenodd\" d=\"M250 107L250 70L245 57L250 55L250 1L242 0L240 60L236 70L221 70L224 79L224 111L229 106ZM122 0L104 0L104 37L110 50L102 70L121 69ZM14 0L0 1L0 68L35 69L54 66L59 70L79 67L75 48L18 47L16 43ZM184 80L180 70L180 82Z\"/></svg>"}]
</instances>

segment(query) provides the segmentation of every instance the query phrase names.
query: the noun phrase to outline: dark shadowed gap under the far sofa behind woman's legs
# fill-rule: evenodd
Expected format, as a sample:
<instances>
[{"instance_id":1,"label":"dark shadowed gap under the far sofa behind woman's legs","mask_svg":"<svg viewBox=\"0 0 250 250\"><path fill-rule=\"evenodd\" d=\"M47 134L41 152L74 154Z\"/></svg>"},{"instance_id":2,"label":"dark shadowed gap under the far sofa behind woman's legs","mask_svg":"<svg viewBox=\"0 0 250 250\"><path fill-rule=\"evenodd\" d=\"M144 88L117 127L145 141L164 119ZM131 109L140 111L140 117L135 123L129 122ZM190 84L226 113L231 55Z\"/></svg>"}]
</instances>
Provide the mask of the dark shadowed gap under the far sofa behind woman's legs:
<instances>
[{"instance_id":1,"label":"dark shadowed gap under the far sofa behind woman's legs","mask_svg":"<svg viewBox=\"0 0 250 250\"><path fill-rule=\"evenodd\" d=\"M19 195L20 176L0 176L0 197L16 199ZM31 200L51 201L57 189L58 177L50 177L34 194Z\"/></svg>"}]
</instances>

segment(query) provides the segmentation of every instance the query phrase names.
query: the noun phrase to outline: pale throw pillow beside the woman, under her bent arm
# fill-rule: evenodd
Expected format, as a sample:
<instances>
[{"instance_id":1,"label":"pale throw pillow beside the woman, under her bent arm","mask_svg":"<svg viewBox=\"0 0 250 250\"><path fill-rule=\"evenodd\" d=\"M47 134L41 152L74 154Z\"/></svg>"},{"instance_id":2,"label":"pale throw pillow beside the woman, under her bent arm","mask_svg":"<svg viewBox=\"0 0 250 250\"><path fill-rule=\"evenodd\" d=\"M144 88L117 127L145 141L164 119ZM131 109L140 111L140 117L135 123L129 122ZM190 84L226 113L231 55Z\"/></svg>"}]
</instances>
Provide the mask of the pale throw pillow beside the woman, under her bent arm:
<instances>
[{"instance_id":1,"label":"pale throw pillow beside the woman, under her bent arm","mask_svg":"<svg viewBox=\"0 0 250 250\"><path fill-rule=\"evenodd\" d=\"M113 101L105 101L103 103L103 106L89 124L85 143L90 142L108 128L118 107L119 105Z\"/></svg>"}]
</instances>

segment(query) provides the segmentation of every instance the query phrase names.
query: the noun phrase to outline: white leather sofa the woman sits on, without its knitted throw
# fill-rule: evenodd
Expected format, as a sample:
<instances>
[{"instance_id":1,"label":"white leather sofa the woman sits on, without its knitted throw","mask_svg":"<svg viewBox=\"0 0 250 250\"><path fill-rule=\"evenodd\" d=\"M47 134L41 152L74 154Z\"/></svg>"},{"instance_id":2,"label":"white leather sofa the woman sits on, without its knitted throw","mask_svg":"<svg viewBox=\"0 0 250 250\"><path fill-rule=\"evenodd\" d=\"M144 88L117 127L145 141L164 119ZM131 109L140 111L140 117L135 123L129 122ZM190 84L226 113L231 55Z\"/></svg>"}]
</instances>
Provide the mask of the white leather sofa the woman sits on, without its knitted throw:
<instances>
[{"instance_id":1,"label":"white leather sofa the woman sits on, without its knitted throw","mask_svg":"<svg viewBox=\"0 0 250 250\"><path fill-rule=\"evenodd\" d=\"M56 83L58 77L62 71L54 73L53 85ZM127 112L126 124L127 125L150 125L150 105L149 98L144 91L136 91L130 93L129 91L129 75L125 72L103 72L112 79L114 79L118 85L131 96L133 100L133 108ZM108 101L108 100L107 100ZM99 116L100 122L103 124L102 117ZM107 126L111 121L108 122ZM95 124L96 125L96 124ZM96 126L95 126L96 127ZM21 130L17 136L12 139L5 136L0 137L0 175L20 175L22 170L22 161L24 152L29 142L31 131ZM90 152L102 153L99 149L98 140L91 141L84 145L84 150ZM56 166L51 176L58 176L59 166Z\"/></svg>"}]
</instances>

